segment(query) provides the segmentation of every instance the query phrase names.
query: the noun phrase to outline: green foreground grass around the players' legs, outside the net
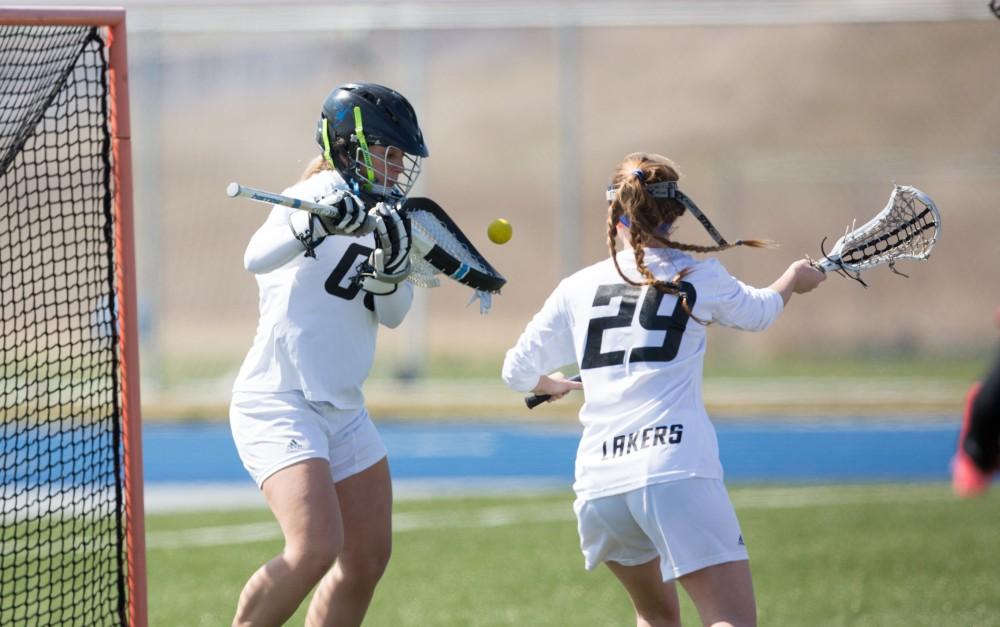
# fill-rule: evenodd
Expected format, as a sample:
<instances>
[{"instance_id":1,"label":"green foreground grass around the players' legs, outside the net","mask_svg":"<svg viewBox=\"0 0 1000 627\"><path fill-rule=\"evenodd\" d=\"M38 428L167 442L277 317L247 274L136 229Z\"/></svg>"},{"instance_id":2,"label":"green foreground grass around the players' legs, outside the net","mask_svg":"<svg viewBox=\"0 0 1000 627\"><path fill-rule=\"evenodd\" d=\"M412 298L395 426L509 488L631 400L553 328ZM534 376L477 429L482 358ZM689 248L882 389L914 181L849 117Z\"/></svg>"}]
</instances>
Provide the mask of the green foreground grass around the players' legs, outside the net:
<instances>
[{"instance_id":1,"label":"green foreground grass around the players' legs, outside the net","mask_svg":"<svg viewBox=\"0 0 1000 627\"><path fill-rule=\"evenodd\" d=\"M731 488L762 626L1000 625L1000 490L944 484ZM402 500L366 625L629 625L625 593L583 570L570 494ZM265 510L150 515L150 625L228 625L280 550ZM681 595L686 625L697 625ZM289 622L301 625L302 610Z\"/></svg>"}]
</instances>

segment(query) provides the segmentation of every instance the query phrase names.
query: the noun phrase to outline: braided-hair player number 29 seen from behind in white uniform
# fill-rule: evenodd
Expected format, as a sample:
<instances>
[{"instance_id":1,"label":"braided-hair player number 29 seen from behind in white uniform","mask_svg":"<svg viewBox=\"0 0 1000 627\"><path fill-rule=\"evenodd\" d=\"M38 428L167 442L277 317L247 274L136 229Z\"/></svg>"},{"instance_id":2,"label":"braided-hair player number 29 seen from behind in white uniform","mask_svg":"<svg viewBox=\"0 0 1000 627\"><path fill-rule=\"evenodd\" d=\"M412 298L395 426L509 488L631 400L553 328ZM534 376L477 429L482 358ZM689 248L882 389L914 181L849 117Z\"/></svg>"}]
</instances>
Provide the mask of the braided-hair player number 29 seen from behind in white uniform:
<instances>
[{"instance_id":1,"label":"braided-hair player number 29 seen from behind in white uniform","mask_svg":"<svg viewBox=\"0 0 1000 627\"><path fill-rule=\"evenodd\" d=\"M621 581L636 624L680 625L676 580L705 625L755 625L747 549L701 399L705 328L766 329L825 275L803 259L758 289L715 259L692 258L766 242L726 242L677 180L660 155L624 159L607 190L610 258L556 287L507 352L503 378L552 399L584 390L580 545L588 570L603 562ZM674 241L685 211L716 246ZM579 383L554 372L573 363Z\"/></svg>"}]
</instances>

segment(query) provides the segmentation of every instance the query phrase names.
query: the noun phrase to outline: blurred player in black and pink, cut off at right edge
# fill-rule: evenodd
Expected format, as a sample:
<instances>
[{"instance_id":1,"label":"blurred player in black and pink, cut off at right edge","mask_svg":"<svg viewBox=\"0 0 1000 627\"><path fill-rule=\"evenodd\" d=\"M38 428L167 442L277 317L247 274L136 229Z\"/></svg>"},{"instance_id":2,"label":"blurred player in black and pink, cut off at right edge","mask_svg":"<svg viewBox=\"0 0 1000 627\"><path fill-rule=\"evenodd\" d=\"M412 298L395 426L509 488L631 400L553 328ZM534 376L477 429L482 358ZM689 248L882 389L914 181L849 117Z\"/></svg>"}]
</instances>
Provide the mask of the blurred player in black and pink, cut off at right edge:
<instances>
[{"instance_id":1,"label":"blurred player in black and pink, cut off at right edge","mask_svg":"<svg viewBox=\"0 0 1000 627\"><path fill-rule=\"evenodd\" d=\"M994 313L1000 329L1000 307ZM969 388L962 414L951 485L961 497L978 496L990 487L1000 468L1000 355L982 381Z\"/></svg>"}]
</instances>

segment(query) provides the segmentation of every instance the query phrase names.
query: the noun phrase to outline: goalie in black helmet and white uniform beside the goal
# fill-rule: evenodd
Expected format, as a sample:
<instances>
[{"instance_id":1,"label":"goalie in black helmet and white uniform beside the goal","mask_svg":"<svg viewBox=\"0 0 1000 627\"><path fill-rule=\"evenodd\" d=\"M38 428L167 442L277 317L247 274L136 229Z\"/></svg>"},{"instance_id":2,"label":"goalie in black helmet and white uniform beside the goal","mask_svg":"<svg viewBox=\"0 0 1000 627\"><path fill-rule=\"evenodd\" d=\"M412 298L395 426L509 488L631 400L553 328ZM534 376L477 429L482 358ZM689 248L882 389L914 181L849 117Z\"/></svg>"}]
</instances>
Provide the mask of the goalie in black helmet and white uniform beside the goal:
<instances>
[{"instance_id":1,"label":"goalie in black helmet and white uniform beside the goal","mask_svg":"<svg viewBox=\"0 0 1000 627\"><path fill-rule=\"evenodd\" d=\"M276 205L244 257L260 322L230 424L285 546L246 583L234 625L281 625L314 587L307 624L360 625L389 560L389 465L361 386L379 325L399 325L413 299L394 201L427 147L406 98L373 83L335 88L316 139L322 154L284 194L337 217Z\"/></svg>"}]
</instances>

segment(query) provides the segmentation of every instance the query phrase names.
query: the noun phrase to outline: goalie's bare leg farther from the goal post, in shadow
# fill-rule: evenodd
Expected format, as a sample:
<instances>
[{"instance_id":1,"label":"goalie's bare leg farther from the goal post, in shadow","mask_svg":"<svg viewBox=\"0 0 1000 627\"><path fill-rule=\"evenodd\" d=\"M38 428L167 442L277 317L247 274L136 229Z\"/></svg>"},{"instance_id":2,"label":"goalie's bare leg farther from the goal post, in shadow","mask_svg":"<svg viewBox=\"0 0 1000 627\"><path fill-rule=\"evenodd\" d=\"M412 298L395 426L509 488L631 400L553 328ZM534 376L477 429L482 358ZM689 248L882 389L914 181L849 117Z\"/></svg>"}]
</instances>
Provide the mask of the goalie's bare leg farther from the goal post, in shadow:
<instances>
[{"instance_id":1,"label":"goalie's bare leg farther from the goal post, in shadow","mask_svg":"<svg viewBox=\"0 0 1000 627\"><path fill-rule=\"evenodd\" d=\"M307 627L355 627L368 611L392 552L392 481L385 458L337 483L344 548L323 577Z\"/></svg>"}]
</instances>

